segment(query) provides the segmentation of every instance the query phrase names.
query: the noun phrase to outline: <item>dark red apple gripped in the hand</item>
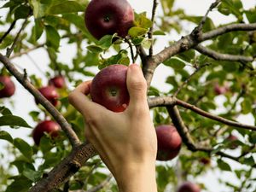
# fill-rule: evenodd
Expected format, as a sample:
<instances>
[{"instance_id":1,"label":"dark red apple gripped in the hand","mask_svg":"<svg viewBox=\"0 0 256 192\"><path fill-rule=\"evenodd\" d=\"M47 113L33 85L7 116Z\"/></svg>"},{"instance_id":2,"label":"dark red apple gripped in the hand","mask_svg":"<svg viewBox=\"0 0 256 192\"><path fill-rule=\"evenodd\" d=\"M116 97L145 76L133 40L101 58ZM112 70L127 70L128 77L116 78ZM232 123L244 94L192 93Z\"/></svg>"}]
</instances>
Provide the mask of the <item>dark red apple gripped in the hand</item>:
<instances>
[{"instance_id":1,"label":"dark red apple gripped in the hand","mask_svg":"<svg viewBox=\"0 0 256 192\"><path fill-rule=\"evenodd\" d=\"M115 64L97 73L90 85L92 101L113 112L125 111L130 101L126 86L127 69L124 65Z\"/></svg>"}]
</instances>

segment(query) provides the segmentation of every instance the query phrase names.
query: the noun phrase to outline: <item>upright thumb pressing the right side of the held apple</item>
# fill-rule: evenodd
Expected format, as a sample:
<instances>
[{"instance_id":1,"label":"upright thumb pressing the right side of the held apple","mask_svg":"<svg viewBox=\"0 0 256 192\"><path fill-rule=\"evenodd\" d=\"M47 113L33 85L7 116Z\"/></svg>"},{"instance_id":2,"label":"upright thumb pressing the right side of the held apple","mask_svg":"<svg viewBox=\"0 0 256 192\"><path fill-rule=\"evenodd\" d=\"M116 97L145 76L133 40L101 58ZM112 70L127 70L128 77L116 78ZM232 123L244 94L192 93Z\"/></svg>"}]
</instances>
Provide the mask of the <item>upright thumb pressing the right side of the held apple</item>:
<instances>
[{"instance_id":1,"label":"upright thumb pressing the right side of the held apple","mask_svg":"<svg viewBox=\"0 0 256 192\"><path fill-rule=\"evenodd\" d=\"M147 82L141 67L137 64L128 67L126 84L130 95L129 105L137 106L140 103L145 104L147 102Z\"/></svg>"}]
</instances>

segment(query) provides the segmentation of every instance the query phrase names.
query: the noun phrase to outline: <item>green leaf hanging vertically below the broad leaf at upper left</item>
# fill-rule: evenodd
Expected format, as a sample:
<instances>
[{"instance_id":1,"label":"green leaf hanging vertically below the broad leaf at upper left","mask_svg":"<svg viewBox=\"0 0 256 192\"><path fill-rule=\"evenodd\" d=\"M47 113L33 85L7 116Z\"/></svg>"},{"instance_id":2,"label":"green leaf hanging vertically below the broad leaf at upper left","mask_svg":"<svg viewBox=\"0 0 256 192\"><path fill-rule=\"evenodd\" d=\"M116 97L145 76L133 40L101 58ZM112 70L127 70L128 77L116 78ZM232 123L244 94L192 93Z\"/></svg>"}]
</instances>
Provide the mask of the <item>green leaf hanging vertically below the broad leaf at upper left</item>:
<instances>
[{"instance_id":1,"label":"green leaf hanging vertically below the broad leaf at upper left","mask_svg":"<svg viewBox=\"0 0 256 192\"><path fill-rule=\"evenodd\" d=\"M55 50L59 49L61 37L58 31L53 26L45 26L46 30L46 45L54 48Z\"/></svg>"}]
</instances>

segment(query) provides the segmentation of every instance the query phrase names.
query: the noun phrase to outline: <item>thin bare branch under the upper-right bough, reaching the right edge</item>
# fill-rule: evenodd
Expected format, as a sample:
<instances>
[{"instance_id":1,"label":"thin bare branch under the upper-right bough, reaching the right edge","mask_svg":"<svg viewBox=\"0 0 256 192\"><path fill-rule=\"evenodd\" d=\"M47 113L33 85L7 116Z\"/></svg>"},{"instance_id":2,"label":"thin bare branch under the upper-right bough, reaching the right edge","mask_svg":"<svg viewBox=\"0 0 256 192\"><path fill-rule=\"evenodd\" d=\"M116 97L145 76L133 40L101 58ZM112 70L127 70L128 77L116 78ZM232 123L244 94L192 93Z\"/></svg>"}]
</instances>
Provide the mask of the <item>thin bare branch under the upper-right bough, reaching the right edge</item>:
<instances>
[{"instance_id":1,"label":"thin bare branch under the upper-right bough, reaching the right edge","mask_svg":"<svg viewBox=\"0 0 256 192\"><path fill-rule=\"evenodd\" d=\"M194 49L196 49L201 54L207 55L212 59L218 60L218 61L253 62L254 60L252 56L230 55L230 54L218 53L217 51L204 47L201 44L196 45Z\"/></svg>"}]
</instances>

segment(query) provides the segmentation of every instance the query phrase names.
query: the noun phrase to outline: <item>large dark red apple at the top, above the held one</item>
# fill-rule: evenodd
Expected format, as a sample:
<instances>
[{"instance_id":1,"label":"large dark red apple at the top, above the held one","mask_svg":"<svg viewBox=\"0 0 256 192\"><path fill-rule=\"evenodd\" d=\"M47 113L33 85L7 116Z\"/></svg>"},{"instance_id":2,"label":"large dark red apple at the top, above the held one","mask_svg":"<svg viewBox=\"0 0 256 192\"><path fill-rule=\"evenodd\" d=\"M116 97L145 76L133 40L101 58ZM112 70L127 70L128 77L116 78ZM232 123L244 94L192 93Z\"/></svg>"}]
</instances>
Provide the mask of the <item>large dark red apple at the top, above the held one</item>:
<instances>
[{"instance_id":1,"label":"large dark red apple at the top, above the held one","mask_svg":"<svg viewBox=\"0 0 256 192\"><path fill-rule=\"evenodd\" d=\"M114 33L125 38L133 20L133 9L126 0L91 0L84 14L85 26L97 39Z\"/></svg>"}]
</instances>

